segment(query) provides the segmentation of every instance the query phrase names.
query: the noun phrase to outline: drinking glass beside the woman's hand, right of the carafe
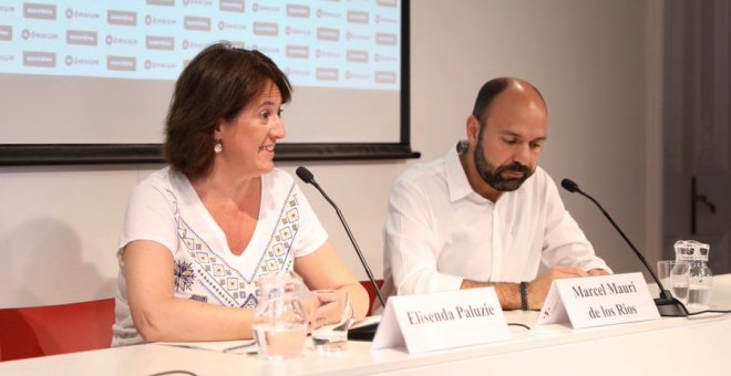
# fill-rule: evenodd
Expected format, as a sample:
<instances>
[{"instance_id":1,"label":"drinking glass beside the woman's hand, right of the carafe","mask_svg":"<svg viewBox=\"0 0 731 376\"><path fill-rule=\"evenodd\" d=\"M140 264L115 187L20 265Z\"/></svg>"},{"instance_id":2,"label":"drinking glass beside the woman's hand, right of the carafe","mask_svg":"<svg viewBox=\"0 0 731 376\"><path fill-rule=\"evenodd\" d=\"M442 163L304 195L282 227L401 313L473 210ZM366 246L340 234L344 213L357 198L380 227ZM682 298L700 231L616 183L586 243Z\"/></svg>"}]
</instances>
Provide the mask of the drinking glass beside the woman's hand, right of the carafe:
<instances>
[{"instance_id":1,"label":"drinking glass beside the woman's hand, right of the carafe","mask_svg":"<svg viewBox=\"0 0 731 376\"><path fill-rule=\"evenodd\" d=\"M312 344L318 352L339 352L348 343L353 312L347 291L315 290L310 295Z\"/></svg>"}]
</instances>

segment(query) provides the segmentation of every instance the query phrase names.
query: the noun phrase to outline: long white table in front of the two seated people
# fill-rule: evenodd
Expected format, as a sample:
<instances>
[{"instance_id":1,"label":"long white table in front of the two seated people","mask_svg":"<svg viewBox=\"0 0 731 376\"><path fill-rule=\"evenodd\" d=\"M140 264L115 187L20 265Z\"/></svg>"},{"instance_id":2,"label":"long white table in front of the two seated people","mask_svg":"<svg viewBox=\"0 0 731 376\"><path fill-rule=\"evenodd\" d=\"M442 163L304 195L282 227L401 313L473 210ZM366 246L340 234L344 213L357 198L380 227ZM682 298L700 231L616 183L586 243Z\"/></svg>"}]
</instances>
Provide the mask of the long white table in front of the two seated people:
<instances>
[{"instance_id":1,"label":"long white table in front of the two seated people","mask_svg":"<svg viewBox=\"0 0 731 376\"><path fill-rule=\"evenodd\" d=\"M712 306L731 309L731 274L714 279ZM533 326L536 312L506 312ZM511 326L504 342L410 355L350 342L341 354L306 349L294 361L147 344L0 363L0 375L731 375L731 314L594 328ZM182 375L182 374L178 374Z\"/></svg>"}]
</instances>

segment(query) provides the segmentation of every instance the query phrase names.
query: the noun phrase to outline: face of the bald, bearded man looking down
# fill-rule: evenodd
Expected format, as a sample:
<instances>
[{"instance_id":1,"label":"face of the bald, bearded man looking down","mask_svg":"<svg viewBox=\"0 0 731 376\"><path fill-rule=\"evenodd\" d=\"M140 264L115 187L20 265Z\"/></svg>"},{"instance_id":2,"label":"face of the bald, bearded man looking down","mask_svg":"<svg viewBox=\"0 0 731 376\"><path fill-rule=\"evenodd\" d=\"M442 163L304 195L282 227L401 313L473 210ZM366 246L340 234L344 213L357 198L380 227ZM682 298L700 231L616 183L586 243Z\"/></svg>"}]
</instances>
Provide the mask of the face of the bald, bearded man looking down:
<instances>
[{"instance_id":1,"label":"face of the bald, bearded man looking down","mask_svg":"<svg viewBox=\"0 0 731 376\"><path fill-rule=\"evenodd\" d=\"M518 189L536 169L547 116L543 101L535 100L525 93L501 93L480 127L474 165L497 191Z\"/></svg>"}]
</instances>

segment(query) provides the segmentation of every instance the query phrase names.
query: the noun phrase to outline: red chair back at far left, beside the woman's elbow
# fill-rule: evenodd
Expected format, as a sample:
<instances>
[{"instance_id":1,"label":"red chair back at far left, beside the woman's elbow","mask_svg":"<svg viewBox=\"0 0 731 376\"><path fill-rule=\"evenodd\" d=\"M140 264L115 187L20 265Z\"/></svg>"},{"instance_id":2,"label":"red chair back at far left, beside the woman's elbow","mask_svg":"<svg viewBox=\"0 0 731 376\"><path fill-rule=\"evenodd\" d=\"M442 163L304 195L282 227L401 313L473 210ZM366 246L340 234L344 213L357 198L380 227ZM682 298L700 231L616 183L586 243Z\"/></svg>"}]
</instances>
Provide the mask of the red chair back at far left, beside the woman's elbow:
<instances>
[{"instance_id":1,"label":"red chair back at far left, beside the woman's elbow","mask_svg":"<svg viewBox=\"0 0 731 376\"><path fill-rule=\"evenodd\" d=\"M0 361L109 347L114 299L0 310Z\"/></svg>"}]
</instances>

